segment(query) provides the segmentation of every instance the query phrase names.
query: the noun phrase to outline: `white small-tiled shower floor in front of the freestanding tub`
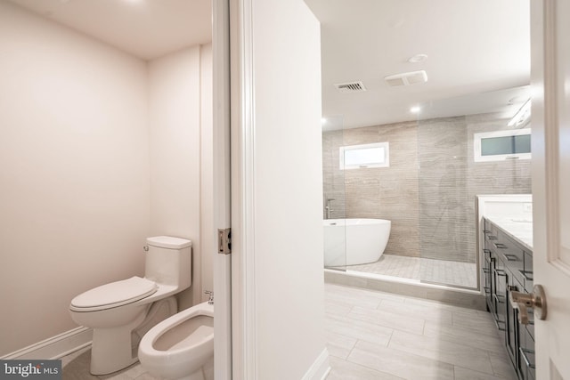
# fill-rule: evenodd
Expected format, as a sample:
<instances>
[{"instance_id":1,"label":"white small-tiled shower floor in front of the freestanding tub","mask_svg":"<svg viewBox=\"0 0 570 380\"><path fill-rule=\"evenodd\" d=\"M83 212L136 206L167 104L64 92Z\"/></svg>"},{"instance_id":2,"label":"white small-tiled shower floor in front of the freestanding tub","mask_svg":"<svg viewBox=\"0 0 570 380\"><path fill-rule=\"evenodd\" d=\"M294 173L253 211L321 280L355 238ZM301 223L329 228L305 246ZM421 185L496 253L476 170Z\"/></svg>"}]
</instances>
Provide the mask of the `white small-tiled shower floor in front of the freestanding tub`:
<instances>
[{"instance_id":1,"label":"white small-tiled shower floor in front of the freestanding tub","mask_svg":"<svg viewBox=\"0 0 570 380\"><path fill-rule=\"evenodd\" d=\"M475 263L459 263L423 257L382 255L376 263L348 265L346 271L417 279L456 287L477 286Z\"/></svg>"}]
</instances>

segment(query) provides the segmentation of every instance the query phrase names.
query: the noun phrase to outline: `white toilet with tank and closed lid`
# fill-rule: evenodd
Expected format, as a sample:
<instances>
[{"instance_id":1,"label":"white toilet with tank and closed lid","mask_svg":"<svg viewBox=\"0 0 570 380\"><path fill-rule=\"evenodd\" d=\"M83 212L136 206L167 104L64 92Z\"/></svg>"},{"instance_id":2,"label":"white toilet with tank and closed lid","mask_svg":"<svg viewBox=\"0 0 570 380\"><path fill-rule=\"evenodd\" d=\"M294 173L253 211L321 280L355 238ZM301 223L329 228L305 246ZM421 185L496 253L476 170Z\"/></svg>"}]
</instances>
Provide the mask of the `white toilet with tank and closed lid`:
<instances>
[{"instance_id":1,"label":"white toilet with tank and closed lid","mask_svg":"<svg viewBox=\"0 0 570 380\"><path fill-rule=\"evenodd\" d=\"M144 278L111 282L77 295L71 319L93 327L91 373L105 375L136 360L141 337L174 315L174 295L191 285L191 240L159 236L146 239Z\"/></svg>"}]
</instances>

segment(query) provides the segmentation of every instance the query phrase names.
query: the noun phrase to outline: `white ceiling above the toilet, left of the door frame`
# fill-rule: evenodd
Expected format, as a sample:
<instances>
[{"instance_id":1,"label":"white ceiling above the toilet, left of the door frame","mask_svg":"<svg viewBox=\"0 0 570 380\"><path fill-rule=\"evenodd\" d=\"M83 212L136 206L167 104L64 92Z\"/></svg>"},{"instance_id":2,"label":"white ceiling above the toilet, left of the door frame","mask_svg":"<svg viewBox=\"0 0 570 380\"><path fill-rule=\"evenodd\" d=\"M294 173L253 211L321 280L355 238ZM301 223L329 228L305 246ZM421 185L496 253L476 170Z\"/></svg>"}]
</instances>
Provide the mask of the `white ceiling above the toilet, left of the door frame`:
<instances>
[{"instance_id":1,"label":"white ceiling above the toilet, left of the door frame","mask_svg":"<svg viewBox=\"0 0 570 380\"><path fill-rule=\"evenodd\" d=\"M212 40L211 0L10 0L143 60Z\"/></svg>"}]
</instances>

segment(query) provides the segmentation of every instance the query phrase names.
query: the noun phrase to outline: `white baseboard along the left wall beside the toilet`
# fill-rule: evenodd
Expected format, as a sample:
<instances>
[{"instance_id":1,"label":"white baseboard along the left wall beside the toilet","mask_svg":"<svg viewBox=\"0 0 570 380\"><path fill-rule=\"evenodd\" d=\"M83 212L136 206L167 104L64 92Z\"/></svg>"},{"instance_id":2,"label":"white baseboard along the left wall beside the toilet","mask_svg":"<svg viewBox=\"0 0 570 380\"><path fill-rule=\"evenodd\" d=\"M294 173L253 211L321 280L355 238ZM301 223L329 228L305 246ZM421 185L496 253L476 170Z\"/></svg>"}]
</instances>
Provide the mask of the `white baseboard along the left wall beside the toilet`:
<instances>
[{"instance_id":1,"label":"white baseboard along the left wall beside the toilet","mask_svg":"<svg viewBox=\"0 0 570 380\"><path fill-rule=\"evenodd\" d=\"M52 336L37 344L29 345L3 356L2 360L52 360L80 350L91 344L93 329L77 327L59 336Z\"/></svg>"}]
</instances>

